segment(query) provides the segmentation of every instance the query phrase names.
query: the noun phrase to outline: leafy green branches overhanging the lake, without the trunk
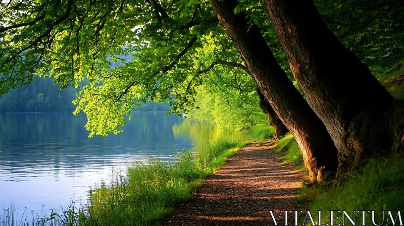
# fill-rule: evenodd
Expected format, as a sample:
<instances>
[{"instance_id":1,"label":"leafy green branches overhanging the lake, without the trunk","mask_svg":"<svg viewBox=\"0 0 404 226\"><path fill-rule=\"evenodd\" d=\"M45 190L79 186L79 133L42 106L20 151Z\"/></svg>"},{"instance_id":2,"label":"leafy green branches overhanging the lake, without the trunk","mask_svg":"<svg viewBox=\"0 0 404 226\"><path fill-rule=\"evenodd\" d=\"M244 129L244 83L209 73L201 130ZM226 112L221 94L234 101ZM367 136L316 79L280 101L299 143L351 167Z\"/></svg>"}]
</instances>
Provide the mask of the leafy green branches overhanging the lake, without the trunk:
<instances>
[{"instance_id":1,"label":"leafy green branches overhanging the lake, without the trunk","mask_svg":"<svg viewBox=\"0 0 404 226\"><path fill-rule=\"evenodd\" d=\"M139 98L169 99L177 114L191 108L198 85L192 75L229 57L197 60L195 48L204 36L214 37L217 46L228 39L207 1L10 2L1 22L1 91L32 82L33 74L52 77L62 88L86 80L75 112L86 113L90 136L120 132Z\"/></svg>"}]
</instances>

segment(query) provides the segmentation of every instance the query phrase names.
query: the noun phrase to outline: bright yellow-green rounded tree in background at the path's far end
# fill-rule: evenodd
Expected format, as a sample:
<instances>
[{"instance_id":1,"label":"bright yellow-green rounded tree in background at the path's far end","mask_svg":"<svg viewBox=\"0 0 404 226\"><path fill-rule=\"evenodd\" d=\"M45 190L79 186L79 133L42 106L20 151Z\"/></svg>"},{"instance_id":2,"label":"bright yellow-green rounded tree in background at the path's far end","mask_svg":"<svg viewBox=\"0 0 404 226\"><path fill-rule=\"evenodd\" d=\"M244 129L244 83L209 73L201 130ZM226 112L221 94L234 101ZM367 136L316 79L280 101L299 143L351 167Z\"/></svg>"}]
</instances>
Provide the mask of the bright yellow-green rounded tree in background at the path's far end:
<instances>
[{"instance_id":1,"label":"bright yellow-green rounded tree in background at the path's far end","mask_svg":"<svg viewBox=\"0 0 404 226\"><path fill-rule=\"evenodd\" d=\"M207 79L196 88L196 107L190 111L192 117L234 130L247 130L266 123L255 92L255 81L237 69L216 65L207 71L204 76Z\"/></svg>"}]
</instances>

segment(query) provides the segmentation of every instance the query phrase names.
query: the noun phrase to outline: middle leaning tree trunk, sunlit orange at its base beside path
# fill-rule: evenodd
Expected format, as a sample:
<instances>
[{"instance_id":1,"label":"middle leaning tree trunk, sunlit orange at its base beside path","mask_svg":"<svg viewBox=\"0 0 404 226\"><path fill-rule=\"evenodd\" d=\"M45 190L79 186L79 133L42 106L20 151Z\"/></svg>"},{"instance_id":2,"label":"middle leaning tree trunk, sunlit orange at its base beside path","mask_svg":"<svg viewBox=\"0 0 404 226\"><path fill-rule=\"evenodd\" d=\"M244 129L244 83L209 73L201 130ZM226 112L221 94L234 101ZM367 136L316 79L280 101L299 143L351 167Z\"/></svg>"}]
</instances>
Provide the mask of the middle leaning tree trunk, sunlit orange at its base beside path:
<instances>
[{"instance_id":1,"label":"middle leaning tree trunk, sunlit orange at its base beside path","mask_svg":"<svg viewBox=\"0 0 404 226\"><path fill-rule=\"evenodd\" d=\"M324 171L335 172L337 150L324 124L287 78L258 27L247 32L245 15L234 15L236 0L210 2L261 92L295 137L311 181L321 181Z\"/></svg>"}]
</instances>

